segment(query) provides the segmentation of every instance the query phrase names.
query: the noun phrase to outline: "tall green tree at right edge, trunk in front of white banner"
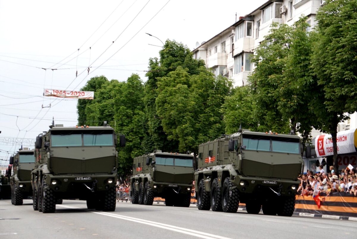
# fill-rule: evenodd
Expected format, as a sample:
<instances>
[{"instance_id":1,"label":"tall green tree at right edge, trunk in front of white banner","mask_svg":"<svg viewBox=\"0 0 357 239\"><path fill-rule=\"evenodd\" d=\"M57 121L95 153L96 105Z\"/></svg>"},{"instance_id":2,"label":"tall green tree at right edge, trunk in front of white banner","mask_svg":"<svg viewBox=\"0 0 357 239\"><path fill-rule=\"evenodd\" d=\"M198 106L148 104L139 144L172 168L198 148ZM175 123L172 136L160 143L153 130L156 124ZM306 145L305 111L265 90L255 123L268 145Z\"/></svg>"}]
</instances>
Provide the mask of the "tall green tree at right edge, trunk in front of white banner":
<instances>
[{"instance_id":1,"label":"tall green tree at right edge, trunk in front of white banner","mask_svg":"<svg viewBox=\"0 0 357 239\"><path fill-rule=\"evenodd\" d=\"M321 87L322 104L315 114L319 128L332 136L333 161L337 164L337 125L345 113L357 110L357 1L327 0L317 12L317 42L312 66Z\"/></svg>"}]
</instances>

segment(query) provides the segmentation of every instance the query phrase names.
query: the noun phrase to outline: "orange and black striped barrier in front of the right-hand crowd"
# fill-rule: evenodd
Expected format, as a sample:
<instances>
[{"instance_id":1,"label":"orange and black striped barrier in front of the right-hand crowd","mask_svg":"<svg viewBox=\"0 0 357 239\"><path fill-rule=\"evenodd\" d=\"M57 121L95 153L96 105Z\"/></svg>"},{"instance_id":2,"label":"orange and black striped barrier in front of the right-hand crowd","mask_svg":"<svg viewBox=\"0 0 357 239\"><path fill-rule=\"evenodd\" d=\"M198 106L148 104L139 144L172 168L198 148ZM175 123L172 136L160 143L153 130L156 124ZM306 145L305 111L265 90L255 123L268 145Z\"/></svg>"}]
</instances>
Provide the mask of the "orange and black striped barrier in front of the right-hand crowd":
<instances>
[{"instance_id":1,"label":"orange and black striped barrier in front of the right-hand crowd","mask_svg":"<svg viewBox=\"0 0 357 239\"><path fill-rule=\"evenodd\" d=\"M320 208L312 196L296 196L295 212L338 216L357 216L357 197L347 193L320 195Z\"/></svg>"}]
</instances>

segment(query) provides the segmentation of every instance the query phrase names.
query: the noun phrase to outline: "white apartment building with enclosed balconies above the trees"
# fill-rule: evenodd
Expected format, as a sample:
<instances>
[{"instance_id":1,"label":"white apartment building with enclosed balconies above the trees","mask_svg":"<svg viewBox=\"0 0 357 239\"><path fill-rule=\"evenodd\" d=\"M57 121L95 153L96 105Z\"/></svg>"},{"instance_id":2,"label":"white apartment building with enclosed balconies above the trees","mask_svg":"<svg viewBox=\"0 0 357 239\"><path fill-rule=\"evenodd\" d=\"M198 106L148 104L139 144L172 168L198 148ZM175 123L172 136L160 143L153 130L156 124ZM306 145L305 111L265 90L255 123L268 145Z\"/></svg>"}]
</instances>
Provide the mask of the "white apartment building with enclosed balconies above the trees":
<instances>
[{"instance_id":1,"label":"white apartment building with enclosed balconies above the trees","mask_svg":"<svg viewBox=\"0 0 357 239\"><path fill-rule=\"evenodd\" d=\"M269 0L213 38L196 44L196 59L203 59L215 75L224 75L234 86L246 85L253 71L250 56L269 33L273 22L293 25L301 16L307 23L316 24L316 12L323 0Z\"/></svg>"}]
</instances>

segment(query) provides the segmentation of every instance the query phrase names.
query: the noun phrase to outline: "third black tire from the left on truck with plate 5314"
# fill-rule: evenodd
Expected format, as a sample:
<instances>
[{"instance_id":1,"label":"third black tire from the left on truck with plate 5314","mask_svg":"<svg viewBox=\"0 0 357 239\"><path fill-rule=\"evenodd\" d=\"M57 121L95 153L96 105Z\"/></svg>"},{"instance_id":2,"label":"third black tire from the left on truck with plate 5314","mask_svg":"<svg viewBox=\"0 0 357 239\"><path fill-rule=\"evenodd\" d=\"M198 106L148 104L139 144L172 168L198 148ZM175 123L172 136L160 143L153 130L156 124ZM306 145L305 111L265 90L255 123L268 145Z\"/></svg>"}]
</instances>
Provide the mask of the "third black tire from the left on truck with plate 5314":
<instances>
[{"instance_id":1,"label":"third black tire from the left on truck with plate 5314","mask_svg":"<svg viewBox=\"0 0 357 239\"><path fill-rule=\"evenodd\" d=\"M229 177L225 178L222 186L222 209L225 213L236 213L239 206L239 192L237 188L231 189L233 183Z\"/></svg>"}]
</instances>

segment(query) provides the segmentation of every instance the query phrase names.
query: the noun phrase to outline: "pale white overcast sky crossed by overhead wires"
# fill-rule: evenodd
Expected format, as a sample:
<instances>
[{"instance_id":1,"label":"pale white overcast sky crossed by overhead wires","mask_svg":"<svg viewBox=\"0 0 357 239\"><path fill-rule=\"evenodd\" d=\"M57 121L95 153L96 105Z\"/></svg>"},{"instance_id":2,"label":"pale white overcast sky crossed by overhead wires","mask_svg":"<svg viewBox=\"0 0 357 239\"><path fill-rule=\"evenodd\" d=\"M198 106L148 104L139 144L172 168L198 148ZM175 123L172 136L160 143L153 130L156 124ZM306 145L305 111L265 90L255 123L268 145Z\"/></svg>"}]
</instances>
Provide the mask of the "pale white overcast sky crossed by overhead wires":
<instances>
[{"instance_id":1,"label":"pale white overcast sky crossed by overhead wires","mask_svg":"<svg viewBox=\"0 0 357 239\"><path fill-rule=\"evenodd\" d=\"M234 24L236 13L238 19L266 1L0 0L0 159L8 160L24 139L47 131L52 117L55 124L76 125L77 100L43 97L44 88L79 90L100 75L125 81L137 73L146 81L160 40L193 50L197 41ZM5 143L7 138L17 144ZM2 160L0 165L8 164Z\"/></svg>"}]
</instances>

